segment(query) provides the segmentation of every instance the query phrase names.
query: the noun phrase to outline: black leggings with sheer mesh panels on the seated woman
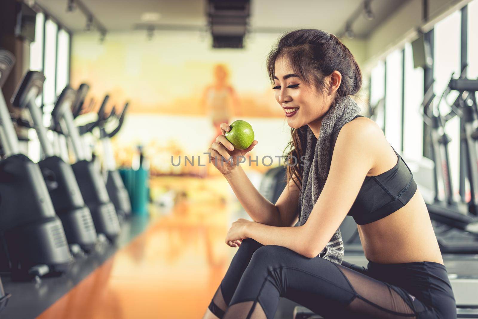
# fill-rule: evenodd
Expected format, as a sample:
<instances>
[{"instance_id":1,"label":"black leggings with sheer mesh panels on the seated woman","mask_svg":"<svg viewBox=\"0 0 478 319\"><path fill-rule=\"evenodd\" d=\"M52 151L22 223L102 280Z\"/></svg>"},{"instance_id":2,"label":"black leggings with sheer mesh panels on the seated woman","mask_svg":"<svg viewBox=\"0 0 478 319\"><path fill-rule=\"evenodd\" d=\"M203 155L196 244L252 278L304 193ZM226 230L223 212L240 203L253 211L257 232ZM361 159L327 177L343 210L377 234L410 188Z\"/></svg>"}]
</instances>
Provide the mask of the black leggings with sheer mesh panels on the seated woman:
<instances>
[{"instance_id":1,"label":"black leggings with sheer mesh panels on the seated woman","mask_svg":"<svg viewBox=\"0 0 478 319\"><path fill-rule=\"evenodd\" d=\"M218 318L272 319L279 297L324 318L456 318L442 264L338 265L252 238L242 241L208 308Z\"/></svg>"}]
</instances>

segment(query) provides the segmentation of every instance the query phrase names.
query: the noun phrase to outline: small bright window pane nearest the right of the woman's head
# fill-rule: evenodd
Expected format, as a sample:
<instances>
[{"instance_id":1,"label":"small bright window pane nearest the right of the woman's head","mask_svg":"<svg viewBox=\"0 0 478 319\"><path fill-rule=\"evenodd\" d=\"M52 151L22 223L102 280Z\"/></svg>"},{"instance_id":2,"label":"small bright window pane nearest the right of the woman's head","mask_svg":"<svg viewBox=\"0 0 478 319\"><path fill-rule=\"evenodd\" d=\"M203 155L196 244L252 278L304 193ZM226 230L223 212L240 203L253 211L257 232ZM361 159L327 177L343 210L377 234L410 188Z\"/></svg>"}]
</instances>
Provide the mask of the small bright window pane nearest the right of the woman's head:
<instances>
[{"instance_id":1,"label":"small bright window pane nearest the right of the woman's head","mask_svg":"<svg viewBox=\"0 0 478 319\"><path fill-rule=\"evenodd\" d=\"M373 109L372 119L380 126L385 127L385 64L379 61L370 74L370 106Z\"/></svg>"}]
</instances>

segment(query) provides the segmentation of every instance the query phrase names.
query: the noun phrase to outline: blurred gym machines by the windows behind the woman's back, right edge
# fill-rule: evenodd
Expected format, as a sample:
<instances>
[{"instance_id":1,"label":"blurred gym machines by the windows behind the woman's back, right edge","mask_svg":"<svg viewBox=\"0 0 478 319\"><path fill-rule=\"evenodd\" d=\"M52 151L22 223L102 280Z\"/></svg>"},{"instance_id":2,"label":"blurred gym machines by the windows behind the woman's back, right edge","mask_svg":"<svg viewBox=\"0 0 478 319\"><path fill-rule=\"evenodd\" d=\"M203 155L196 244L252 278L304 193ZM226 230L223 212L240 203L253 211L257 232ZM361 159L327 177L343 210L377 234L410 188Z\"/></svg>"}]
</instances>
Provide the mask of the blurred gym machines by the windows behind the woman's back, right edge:
<instances>
[{"instance_id":1,"label":"blurred gym machines by the windows behind the woman's back, right edge","mask_svg":"<svg viewBox=\"0 0 478 319\"><path fill-rule=\"evenodd\" d=\"M452 74L436 103L433 103L436 96L432 83L425 92L422 104L422 115L430 129L431 155L435 162L435 196L433 201L427 202L427 208L435 222L438 244L444 254L478 254L478 79L468 79L466 69L465 66L456 79ZM448 96L453 91L458 96L450 103ZM450 108L445 115L440 110L442 101ZM448 144L451 138L445 132L446 122L454 117L460 118L462 149L458 200L450 170ZM466 192L466 182L469 194Z\"/></svg>"}]
</instances>

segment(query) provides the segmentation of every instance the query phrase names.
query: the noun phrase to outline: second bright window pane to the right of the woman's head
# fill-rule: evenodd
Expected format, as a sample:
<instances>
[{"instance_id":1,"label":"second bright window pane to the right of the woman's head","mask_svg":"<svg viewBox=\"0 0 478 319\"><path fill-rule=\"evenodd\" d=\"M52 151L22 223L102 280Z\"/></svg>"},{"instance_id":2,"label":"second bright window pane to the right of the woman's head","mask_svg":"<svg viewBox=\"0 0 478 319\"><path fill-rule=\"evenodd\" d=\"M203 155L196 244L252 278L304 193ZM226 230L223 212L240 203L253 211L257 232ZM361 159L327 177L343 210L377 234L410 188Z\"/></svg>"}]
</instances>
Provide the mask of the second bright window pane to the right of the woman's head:
<instances>
[{"instance_id":1,"label":"second bright window pane to the right of the woman's head","mask_svg":"<svg viewBox=\"0 0 478 319\"><path fill-rule=\"evenodd\" d=\"M386 58L385 137L394 149L402 148L402 50Z\"/></svg>"}]
</instances>

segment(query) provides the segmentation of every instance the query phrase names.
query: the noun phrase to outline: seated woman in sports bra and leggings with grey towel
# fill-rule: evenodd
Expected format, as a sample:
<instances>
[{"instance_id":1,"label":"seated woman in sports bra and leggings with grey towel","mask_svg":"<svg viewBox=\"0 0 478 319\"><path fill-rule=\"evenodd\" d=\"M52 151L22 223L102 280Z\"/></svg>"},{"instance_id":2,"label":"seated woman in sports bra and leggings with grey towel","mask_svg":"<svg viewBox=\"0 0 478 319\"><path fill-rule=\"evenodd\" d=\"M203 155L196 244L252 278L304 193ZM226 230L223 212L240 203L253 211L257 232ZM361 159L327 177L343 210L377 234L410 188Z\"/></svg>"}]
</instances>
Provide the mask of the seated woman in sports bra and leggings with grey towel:
<instances>
[{"instance_id":1,"label":"seated woman in sports bra and leggings with grey towel","mask_svg":"<svg viewBox=\"0 0 478 319\"><path fill-rule=\"evenodd\" d=\"M347 47L320 30L293 31L269 54L268 69L292 128L288 155L309 163L290 157L288 186L274 205L238 166L257 141L244 151L224 135L212 143L210 159L233 157L213 163L254 222L232 224L226 243L239 250L204 318L272 319L279 297L325 318L456 318L412 173L349 97L361 73ZM342 261L337 228L347 214L358 223L367 268Z\"/></svg>"}]
</instances>

